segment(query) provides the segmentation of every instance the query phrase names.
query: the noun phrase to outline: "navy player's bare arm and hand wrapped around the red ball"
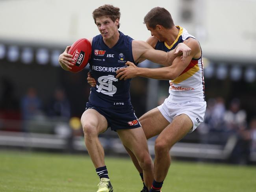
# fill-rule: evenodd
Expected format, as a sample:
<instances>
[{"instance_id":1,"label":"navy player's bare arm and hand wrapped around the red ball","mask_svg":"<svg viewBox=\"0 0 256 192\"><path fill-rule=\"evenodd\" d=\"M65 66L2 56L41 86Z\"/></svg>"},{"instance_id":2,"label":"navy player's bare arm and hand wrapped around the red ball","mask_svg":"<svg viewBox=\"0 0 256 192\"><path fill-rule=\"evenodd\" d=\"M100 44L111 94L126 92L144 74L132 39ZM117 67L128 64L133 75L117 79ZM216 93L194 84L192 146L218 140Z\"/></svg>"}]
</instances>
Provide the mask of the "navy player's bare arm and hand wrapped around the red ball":
<instances>
[{"instance_id":1,"label":"navy player's bare arm and hand wrapped around the red ball","mask_svg":"<svg viewBox=\"0 0 256 192\"><path fill-rule=\"evenodd\" d=\"M92 44L93 39L91 38L88 40ZM74 64L71 62L75 62L75 60L72 59L72 55L68 54L70 47L71 46L67 46L65 51L59 55L59 65L66 71L68 71L69 69L72 69L72 66L74 66Z\"/></svg>"}]
</instances>

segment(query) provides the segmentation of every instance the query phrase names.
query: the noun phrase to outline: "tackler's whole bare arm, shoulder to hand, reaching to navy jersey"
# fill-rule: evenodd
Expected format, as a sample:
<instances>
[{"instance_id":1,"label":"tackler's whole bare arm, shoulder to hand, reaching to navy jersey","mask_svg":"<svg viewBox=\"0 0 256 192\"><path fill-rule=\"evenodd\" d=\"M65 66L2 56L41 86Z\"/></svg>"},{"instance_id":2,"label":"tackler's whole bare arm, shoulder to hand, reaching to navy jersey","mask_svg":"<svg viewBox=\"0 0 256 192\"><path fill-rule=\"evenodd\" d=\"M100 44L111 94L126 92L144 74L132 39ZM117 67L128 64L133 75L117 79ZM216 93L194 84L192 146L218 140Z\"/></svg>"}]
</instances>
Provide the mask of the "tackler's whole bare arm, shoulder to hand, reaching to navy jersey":
<instances>
[{"instance_id":1,"label":"tackler's whole bare arm, shoulder to hand, reaching to navy jersey","mask_svg":"<svg viewBox=\"0 0 256 192\"><path fill-rule=\"evenodd\" d=\"M200 44L196 39L189 38L184 43L191 48L191 54L188 55L185 61L181 61L180 57L177 56L171 66L162 68L140 68L135 66L133 63L129 62L126 68L117 70L117 78L120 80L134 78L136 76L141 76L145 78L152 79L163 79L163 80L173 80L176 79L182 71L189 65L191 59L199 58L201 56Z\"/></svg>"}]
</instances>

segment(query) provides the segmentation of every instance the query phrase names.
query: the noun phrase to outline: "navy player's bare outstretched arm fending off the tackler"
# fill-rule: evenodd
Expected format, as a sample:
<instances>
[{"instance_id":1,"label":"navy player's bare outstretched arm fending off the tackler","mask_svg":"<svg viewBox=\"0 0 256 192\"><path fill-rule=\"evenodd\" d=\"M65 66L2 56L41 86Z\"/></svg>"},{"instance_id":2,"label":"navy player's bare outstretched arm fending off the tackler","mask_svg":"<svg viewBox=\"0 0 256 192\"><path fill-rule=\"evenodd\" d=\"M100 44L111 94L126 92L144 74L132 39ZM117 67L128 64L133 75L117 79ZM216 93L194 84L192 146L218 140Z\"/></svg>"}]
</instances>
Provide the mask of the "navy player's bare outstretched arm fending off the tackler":
<instances>
[{"instance_id":1,"label":"navy player's bare outstretched arm fending off the tackler","mask_svg":"<svg viewBox=\"0 0 256 192\"><path fill-rule=\"evenodd\" d=\"M190 54L191 49L185 44L179 44L174 50L168 53L155 50L147 42L144 41L132 41L132 54L136 63L141 62L144 59L148 59L154 63L159 63L163 66L170 66L177 55L183 52L183 60Z\"/></svg>"}]
</instances>

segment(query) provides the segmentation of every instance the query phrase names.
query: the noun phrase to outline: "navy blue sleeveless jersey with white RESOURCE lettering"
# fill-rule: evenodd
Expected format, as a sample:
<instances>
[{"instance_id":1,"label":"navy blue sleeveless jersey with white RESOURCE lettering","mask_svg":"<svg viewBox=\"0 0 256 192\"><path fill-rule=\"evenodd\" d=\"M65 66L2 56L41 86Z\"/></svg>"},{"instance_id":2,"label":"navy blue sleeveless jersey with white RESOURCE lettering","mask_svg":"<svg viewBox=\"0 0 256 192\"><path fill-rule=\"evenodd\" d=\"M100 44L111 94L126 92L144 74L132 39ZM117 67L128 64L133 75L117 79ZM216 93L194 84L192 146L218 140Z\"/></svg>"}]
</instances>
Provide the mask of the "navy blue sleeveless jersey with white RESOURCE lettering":
<instances>
[{"instance_id":1,"label":"navy blue sleeveless jersey with white RESOURCE lettering","mask_svg":"<svg viewBox=\"0 0 256 192\"><path fill-rule=\"evenodd\" d=\"M109 109L132 107L129 92L131 79L120 81L115 77L117 70L125 67L127 61L135 63L132 56L133 39L119 33L119 40L112 48L106 46L101 35L93 38L89 64L96 87L91 87L91 105Z\"/></svg>"}]
</instances>

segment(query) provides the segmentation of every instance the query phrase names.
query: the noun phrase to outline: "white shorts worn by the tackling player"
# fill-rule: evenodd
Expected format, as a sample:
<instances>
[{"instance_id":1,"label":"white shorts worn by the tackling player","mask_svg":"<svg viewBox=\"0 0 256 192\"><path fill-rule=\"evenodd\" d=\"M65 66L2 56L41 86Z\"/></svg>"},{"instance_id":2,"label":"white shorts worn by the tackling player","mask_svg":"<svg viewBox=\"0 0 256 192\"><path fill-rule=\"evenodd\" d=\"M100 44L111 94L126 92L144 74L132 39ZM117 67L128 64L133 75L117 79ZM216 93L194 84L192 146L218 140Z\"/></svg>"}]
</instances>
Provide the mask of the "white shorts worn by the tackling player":
<instances>
[{"instance_id":1,"label":"white shorts worn by the tackling player","mask_svg":"<svg viewBox=\"0 0 256 192\"><path fill-rule=\"evenodd\" d=\"M186 114L189 116L191 121L193 122L193 129L189 132L194 131L200 123L204 121L204 113L206 110L206 102L205 101L197 101L197 102L185 102L185 103L172 103L168 101L168 98L165 99L162 105L158 106L161 114L166 118L170 123L173 118L180 115Z\"/></svg>"}]
</instances>

